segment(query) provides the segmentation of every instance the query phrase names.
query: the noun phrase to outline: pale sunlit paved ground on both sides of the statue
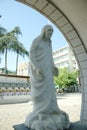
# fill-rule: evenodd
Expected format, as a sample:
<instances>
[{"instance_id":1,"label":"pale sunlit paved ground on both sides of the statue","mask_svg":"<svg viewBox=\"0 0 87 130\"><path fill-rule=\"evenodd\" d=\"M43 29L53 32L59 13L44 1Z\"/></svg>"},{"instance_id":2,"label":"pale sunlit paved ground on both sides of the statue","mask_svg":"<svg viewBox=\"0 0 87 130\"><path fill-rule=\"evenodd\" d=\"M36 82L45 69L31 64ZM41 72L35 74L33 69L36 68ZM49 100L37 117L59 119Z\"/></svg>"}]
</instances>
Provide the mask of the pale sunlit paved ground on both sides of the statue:
<instances>
[{"instance_id":1,"label":"pale sunlit paved ground on both sides of the statue","mask_svg":"<svg viewBox=\"0 0 87 130\"><path fill-rule=\"evenodd\" d=\"M59 107L69 114L71 122L80 120L81 93L57 95ZM21 104L0 105L0 130L13 130L13 125L24 123L32 111L32 101Z\"/></svg>"}]
</instances>

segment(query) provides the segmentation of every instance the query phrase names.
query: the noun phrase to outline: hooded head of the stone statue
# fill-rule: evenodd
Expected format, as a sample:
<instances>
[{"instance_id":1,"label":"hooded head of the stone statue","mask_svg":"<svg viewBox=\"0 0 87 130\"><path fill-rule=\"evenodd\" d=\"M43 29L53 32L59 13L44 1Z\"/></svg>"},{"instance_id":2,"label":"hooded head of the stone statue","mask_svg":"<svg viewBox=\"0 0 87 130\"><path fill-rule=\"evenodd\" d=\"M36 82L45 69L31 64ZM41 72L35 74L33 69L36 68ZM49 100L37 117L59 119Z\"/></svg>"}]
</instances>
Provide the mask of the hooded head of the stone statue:
<instances>
[{"instance_id":1,"label":"hooded head of the stone statue","mask_svg":"<svg viewBox=\"0 0 87 130\"><path fill-rule=\"evenodd\" d=\"M45 39L50 39L53 34L53 27L51 25L45 25L42 28L41 35Z\"/></svg>"}]
</instances>

